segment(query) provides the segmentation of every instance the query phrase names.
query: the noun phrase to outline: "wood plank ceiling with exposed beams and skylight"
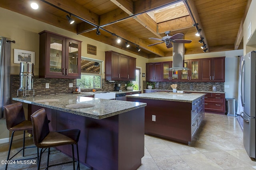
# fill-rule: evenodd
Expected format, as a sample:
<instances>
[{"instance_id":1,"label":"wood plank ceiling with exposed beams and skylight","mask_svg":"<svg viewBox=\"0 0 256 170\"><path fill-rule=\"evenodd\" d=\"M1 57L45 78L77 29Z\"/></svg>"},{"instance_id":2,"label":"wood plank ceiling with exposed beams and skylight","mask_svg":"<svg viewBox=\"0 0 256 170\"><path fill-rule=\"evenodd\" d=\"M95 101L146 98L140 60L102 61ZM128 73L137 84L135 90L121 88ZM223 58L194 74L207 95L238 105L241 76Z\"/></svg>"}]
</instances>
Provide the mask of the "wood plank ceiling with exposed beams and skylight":
<instances>
[{"instance_id":1,"label":"wood plank ceiling with exposed beams and skylight","mask_svg":"<svg viewBox=\"0 0 256 170\"><path fill-rule=\"evenodd\" d=\"M165 43L148 46L161 42L149 37L161 39L165 31L171 31L170 35L184 33L184 39L192 40L184 44L185 54L204 53L203 44L198 43L201 37L206 52L242 49L242 24L251 0L37 0L38 10L32 10L30 2L0 0L0 7L154 58L172 56L172 48L166 48ZM66 19L69 14L75 20L72 25ZM96 35L97 27L101 35ZM195 36L197 29L202 29L201 37ZM117 37L122 39L119 44Z\"/></svg>"}]
</instances>

